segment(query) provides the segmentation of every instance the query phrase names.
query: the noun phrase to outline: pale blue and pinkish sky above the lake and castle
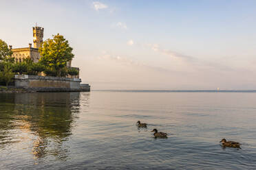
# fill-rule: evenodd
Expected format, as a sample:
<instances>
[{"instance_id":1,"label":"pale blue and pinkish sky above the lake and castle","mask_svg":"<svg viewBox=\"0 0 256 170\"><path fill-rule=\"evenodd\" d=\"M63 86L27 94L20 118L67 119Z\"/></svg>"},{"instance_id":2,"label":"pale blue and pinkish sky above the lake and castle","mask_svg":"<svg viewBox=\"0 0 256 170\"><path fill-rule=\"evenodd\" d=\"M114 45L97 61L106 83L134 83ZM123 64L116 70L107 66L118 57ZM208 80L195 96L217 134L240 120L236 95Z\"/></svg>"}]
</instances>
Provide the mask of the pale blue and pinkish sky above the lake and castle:
<instances>
[{"instance_id":1,"label":"pale blue and pinkish sky above the lake and castle","mask_svg":"<svg viewBox=\"0 0 256 170\"><path fill-rule=\"evenodd\" d=\"M256 89L256 1L0 0L13 48L62 34L94 90Z\"/></svg>"}]
</instances>

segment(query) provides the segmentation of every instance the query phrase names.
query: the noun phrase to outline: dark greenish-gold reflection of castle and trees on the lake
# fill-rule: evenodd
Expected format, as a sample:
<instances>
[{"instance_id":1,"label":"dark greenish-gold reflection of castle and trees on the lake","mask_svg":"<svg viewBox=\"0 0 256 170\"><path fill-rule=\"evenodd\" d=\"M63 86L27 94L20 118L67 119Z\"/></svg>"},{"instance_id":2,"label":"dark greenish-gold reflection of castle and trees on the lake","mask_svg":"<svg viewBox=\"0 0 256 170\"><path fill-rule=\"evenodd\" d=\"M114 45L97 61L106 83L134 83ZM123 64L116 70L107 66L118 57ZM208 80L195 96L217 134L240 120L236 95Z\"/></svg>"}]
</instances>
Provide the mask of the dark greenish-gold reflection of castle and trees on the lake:
<instances>
[{"instance_id":1,"label":"dark greenish-gold reflection of castle and trees on the lake","mask_svg":"<svg viewBox=\"0 0 256 170\"><path fill-rule=\"evenodd\" d=\"M34 159L65 160L79 98L79 93L0 94L0 149L16 143L13 147L32 149Z\"/></svg>"}]
</instances>

